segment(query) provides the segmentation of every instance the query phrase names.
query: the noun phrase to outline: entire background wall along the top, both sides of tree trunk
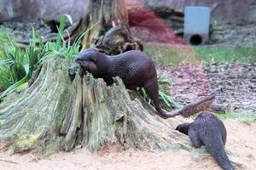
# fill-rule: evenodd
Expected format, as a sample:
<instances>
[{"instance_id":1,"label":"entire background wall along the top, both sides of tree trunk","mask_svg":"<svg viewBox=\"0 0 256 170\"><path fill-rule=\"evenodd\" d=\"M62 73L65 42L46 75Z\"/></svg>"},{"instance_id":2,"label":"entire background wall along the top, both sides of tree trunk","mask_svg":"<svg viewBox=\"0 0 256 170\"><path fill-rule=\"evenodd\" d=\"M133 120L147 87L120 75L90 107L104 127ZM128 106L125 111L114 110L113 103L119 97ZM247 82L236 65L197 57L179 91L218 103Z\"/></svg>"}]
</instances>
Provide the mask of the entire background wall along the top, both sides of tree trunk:
<instances>
[{"instance_id":1,"label":"entire background wall along the top, both sides of tree trunk","mask_svg":"<svg viewBox=\"0 0 256 170\"><path fill-rule=\"evenodd\" d=\"M212 8L212 21L256 22L256 0L125 0L128 4L169 6L183 10L185 6ZM57 3L56 3L57 2ZM0 21L13 19L59 19L61 14L79 18L89 0L0 0Z\"/></svg>"}]
</instances>

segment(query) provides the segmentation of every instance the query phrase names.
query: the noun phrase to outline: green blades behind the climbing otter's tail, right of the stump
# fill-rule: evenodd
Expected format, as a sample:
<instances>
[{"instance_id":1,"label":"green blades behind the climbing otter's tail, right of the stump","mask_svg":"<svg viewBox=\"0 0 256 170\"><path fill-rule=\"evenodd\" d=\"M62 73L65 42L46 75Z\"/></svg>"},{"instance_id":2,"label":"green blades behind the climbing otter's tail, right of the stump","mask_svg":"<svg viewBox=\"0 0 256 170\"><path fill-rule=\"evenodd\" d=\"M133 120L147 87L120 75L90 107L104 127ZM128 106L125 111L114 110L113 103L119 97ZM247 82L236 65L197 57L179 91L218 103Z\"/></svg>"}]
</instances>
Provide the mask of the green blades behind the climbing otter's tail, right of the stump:
<instances>
[{"instance_id":1,"label":"green blades behind the climbing otter's tail, right of the stump","mask_svg":"<svg viewBox=\"0 0 256 170\"><path fill-rule=\"evenodd\" d=\"M170 92L170 78L162 71L158 71L157 75L161 108L166 111L172 111L173 108L180 108L181 105L178 105L172 98L172 94ZM148 102L148 104L153 105L153 102L148 98L144 88L137 88L137 90L143 96L143 99Z\"/></svg>"}]
</instances>

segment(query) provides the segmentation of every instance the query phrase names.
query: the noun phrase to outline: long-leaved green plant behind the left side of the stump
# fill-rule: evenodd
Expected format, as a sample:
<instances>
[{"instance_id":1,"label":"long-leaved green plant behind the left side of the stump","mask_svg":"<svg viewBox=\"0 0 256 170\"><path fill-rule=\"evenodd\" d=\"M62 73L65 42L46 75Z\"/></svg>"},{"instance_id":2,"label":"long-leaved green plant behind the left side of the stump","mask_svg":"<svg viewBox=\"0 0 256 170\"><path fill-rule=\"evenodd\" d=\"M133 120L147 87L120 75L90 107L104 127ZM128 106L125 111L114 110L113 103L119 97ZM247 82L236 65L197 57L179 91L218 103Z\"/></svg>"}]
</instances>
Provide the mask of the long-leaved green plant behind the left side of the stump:
<instances>
[{"instance_id":1,"label":"long-leaved green plant behind the left side of the stump","mask_svg":"<svg viewBox=\"0 0 256 170\"><path fill-rule=\"evenodd\" d=\"M42 37L36 36L36 31L32 28L32 41L26 50L15 46L15 38L8 32L0 32L0 90L4 90L0 98L14 91L15 89L26 88L27 82L32 77L32 72L38 68L44 57L49 54L64 54L74 57L79 53L82 36L76 40L73 45L70 40L65 41L64 26L66 20L72 22L69 15L62 14L60 27L56 42L46 42L44 44ZM91 29L91 28L90 28Z\"/></svg>"}]
</instances>

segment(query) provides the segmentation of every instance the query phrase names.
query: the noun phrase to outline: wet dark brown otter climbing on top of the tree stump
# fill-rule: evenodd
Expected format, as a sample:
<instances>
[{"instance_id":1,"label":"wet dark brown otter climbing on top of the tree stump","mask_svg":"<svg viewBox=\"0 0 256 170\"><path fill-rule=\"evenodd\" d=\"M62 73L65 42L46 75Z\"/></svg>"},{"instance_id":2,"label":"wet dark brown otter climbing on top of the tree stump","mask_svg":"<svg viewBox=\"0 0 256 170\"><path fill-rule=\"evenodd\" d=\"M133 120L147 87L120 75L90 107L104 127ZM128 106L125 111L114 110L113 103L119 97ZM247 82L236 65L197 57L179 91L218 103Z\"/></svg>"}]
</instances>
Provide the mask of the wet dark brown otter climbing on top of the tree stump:
<instances>
[{"instance_id":1,"label":"wet dark brown otter climbing on top of the tree stump","mask_svg":"<svg viewBox=\"0 0 256 170\"><path fill-rule=\"evenodd\" d=\"M153 60L147 54L139 50L131 50L108 56L95 48L89 48L80 52L75 62L84 71L89 71L93 77L103 78L107 85L113 84L113 77L120 77L125 83L125 88L131 90L136 90L137 87L145 88L159 116L165 119L176 116L167 114L160 107L156 69Z\"/></svg>"}]
</instances>

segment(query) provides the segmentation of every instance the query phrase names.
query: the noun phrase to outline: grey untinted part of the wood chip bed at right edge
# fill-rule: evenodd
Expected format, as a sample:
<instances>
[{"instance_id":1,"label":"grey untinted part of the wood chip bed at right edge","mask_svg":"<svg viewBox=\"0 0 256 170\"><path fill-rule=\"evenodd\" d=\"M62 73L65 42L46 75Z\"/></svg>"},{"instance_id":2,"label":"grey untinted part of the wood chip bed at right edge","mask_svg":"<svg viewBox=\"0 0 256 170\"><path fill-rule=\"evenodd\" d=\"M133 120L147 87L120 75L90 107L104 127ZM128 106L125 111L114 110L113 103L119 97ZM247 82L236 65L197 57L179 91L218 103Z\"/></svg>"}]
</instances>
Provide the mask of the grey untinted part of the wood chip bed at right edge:
<instances>
[{"instance_id":1,"label":"grey untinted part of the wood chip bed at right edge","mask_svg":"<svg viewBox=\"0 0 256 170\"><path fill-rule=\"evenodd\" d=\"M230 103L234 111L256 114L256 63L206 65L211 92L218 103Z\"/></svg>"}]
</instances>

